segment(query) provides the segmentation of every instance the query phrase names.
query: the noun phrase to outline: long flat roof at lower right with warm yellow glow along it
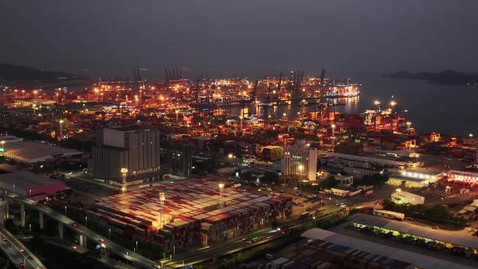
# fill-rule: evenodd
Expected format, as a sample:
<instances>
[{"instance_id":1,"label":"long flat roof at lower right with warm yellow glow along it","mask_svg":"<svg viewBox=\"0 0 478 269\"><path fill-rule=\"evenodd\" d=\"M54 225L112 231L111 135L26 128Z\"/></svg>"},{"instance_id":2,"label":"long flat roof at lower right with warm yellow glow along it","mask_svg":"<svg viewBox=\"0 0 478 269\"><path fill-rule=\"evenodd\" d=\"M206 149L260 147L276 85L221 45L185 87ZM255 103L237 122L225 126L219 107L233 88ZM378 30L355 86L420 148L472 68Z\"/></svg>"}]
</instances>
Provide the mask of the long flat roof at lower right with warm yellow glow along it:
<instances>
[{"instance_id":1,"label":"long flat roof at lower right with warm yellow glow along it","mask_svg":"<svg viewBox=\"0 0 478 269\"><path fill-rule=\"evenodd\" d=\"M403 221L385 219L374 215L354 214L349 217L349 221L369 226L387 228L400 233L409 233L423 238L429 238L442 242L449 242L454 245L478 249L478 239L461 231L435 230L424 226L418 226Z\"/></svg>"}]
</instances>

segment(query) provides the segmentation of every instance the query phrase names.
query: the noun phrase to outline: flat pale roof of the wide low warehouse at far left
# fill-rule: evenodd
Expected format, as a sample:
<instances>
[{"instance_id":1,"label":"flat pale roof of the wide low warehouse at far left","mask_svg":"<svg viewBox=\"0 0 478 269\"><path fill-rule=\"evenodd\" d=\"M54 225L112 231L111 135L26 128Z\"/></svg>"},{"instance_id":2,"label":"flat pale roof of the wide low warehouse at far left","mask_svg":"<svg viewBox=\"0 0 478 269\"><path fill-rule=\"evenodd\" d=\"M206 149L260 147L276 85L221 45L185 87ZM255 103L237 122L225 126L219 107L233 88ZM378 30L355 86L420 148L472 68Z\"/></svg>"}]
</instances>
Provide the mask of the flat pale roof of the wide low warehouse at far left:
<instances>
[{"instance_id":1,"label":"flat pale roof of the wide low warehouse at far left","mask_svg":"<svg viewBox=\"0 0 478 269\"><path fill-rule=\"evenodd\" d=\"M78 152L76 150L47 145L34 141L12 142L5 145L5 147L6 154L21 157L24 159L36 159L61 154L81 154L81 152Z\"/></svg>"}]
</instances>

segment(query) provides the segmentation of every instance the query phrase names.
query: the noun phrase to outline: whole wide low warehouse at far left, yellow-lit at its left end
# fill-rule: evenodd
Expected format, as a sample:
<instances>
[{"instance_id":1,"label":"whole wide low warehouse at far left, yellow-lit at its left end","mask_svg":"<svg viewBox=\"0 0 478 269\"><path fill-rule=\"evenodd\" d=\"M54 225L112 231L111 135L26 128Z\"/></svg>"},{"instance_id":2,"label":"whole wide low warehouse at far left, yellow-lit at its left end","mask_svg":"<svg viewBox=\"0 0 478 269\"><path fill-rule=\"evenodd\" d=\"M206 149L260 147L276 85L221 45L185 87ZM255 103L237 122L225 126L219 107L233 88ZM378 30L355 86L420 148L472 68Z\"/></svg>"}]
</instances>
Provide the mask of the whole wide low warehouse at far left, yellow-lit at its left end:
<instances>
[{"instance_id":1,"label":"whole wide low warehouse at far left, yellow-lit at its left end","mask_svg":"<svg viewBox=\"0 0 478 269\"><path fill-rule=\"evenodd\" d=\"M3 141L3 140L2 140ZM43 163L51 159L81 157L82 152L34 141L3 143L2 154L19 163Z\"/></svg>"}]
</instances>

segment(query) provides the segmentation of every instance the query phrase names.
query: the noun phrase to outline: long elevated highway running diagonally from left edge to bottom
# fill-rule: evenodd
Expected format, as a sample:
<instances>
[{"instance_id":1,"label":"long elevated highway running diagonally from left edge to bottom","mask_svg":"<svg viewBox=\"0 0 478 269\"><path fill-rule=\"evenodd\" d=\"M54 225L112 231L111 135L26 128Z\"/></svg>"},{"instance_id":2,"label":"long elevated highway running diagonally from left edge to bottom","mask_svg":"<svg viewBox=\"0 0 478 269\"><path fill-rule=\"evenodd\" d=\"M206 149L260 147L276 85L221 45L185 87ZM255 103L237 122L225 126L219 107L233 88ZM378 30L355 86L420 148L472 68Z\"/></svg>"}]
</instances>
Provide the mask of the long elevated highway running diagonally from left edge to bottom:
<instances>
[{"instance_id":1,"label":"long elevated highway running diagonally from left edge to bottom","mask_svg":"<svg viewBox=\"0 0 478 269\"><path fill-rule=\"evenodd\" d=\"M70 219L63 214L55 210L52 210L52 208L49 208L48 206L43 205L43 203L37 203L36 205L34 205L34 201L29 198L15 196L13 194L9 194L8 196L10 198L13 198L16 201L20 201L21 203L30 205L31 208L34 208L35 210L38 210L39 212L43 212L43 214L63 224L64 228L71 228L76 233L85 235L88 238L88 240L92 240L97 245L102 245L106 249L106 251L113 252L117 256L121 256L122 258L128 261L131 261L137 266L141 266L143 268L152 268L152 269L159 268L159 263L151 261L150 259L147 259L144 256L141 256L140 254L133 252L131 249L126 249L126 247L122 247L121 245L118 245L111 240L103 238L98 233L95 233L94 231L90 230L86 226L77 224L75 221L73 221L73 219ZM73 226L73 224L76 224L76 225Z\"/></svg>"}]
</instances>

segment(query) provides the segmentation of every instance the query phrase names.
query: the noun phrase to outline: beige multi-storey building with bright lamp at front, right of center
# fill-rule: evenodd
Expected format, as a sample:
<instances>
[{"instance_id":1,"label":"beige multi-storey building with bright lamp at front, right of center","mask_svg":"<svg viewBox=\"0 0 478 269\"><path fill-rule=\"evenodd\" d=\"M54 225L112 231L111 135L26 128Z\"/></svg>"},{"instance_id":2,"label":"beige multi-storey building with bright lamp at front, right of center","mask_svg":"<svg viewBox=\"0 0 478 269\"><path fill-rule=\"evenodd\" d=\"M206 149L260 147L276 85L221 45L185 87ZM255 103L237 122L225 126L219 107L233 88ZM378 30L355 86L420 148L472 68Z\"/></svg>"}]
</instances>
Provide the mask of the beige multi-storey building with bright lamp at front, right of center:
<instances>
[{"instance_id":1,"label":"beige multi-storey building with bright lamp at front, right of center","mask_svg":"<svg viewBox=\"0 0 478 269\"><path fill-rule=\"evenodd\" d=\"M285 147L281 162L284 176L296 177L298 180L314 181L317 174L317 149L311 148L305 140Z\"/></svg>"}]
</instances>

